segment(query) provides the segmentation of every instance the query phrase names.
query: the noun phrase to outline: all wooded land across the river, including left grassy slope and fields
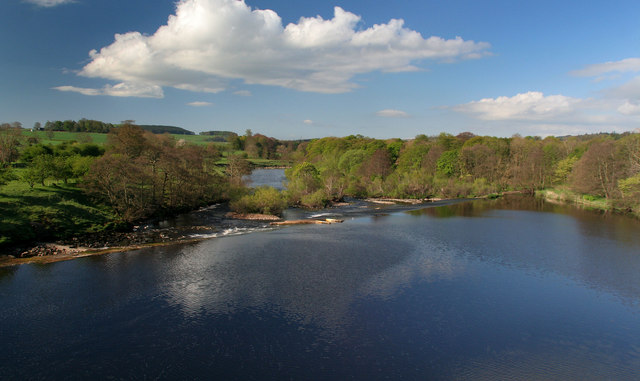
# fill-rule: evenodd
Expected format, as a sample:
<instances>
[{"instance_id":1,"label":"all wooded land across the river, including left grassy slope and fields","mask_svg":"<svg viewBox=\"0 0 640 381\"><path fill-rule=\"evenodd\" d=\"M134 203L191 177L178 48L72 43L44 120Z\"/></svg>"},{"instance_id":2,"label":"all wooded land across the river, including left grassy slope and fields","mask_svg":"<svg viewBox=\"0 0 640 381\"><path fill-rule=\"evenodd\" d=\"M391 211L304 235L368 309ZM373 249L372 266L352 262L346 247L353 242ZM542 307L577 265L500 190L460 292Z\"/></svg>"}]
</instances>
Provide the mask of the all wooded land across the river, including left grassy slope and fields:
<instances>
[{"instance_id":1,"label":"all wooded land across the river, including left grassy slope and fields","mask_svg":"<svg viewBox=\"0 0 640 381\"><path fill-rule=\"evenodd\" d=\"M127 229L219 202L239 213L279 215L287 207L323 208L345 197L521 192L636 216L640 211L637 132L281 141L251 130L153 133L131 121L67 123L95 127L75 132L58 125L65 123L32 130L0 125L0 245ZM286 190L246 187L243 176L255 166L286 167Z\"/></svg>"}]
</instances>

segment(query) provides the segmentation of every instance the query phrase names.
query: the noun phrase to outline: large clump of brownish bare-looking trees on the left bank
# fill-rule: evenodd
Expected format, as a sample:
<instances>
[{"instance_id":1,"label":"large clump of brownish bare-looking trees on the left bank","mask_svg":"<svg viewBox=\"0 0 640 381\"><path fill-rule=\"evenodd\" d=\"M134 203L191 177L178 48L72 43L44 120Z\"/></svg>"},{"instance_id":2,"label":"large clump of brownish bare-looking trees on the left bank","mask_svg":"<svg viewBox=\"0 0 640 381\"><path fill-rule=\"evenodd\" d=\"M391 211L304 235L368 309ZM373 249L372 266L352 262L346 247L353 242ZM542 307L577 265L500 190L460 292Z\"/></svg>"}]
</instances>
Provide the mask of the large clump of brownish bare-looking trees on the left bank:
<instances>
[{"instance_id":1,"label":"large clump of brownish bare-looking trees on the left bank","mask_svg":"<svg viewBox=\"0 0 640 381\"><path fill-rule=\"evenodd\" d=\"M218 200L224 192L222 178L211 165L217 151L131 124L114 128L108 142L107 152L85 176L84 187L123 221L192 209Z\"/></svg>"}]
</instances>

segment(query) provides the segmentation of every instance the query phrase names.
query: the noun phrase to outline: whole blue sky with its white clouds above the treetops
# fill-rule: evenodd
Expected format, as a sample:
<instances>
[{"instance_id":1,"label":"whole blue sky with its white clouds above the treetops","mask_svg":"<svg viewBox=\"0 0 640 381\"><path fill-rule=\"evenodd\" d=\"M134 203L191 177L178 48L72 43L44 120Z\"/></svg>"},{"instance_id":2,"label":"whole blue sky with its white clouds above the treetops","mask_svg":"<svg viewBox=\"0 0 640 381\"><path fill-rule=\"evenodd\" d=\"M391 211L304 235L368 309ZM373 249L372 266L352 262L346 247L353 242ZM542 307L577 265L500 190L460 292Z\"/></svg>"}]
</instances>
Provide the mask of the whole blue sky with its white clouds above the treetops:
<instances>
[{"instance_id":1,"label":"whole blue sky with its white clouds above the treetops","mask_svg":"<svg viewBox=\"0 0 640 381\"><path fill-rule=\"evenodd\" d=\"M0 122L281 139L640 127L640 2L2 0Z\"/></svg>"}]
</instances>

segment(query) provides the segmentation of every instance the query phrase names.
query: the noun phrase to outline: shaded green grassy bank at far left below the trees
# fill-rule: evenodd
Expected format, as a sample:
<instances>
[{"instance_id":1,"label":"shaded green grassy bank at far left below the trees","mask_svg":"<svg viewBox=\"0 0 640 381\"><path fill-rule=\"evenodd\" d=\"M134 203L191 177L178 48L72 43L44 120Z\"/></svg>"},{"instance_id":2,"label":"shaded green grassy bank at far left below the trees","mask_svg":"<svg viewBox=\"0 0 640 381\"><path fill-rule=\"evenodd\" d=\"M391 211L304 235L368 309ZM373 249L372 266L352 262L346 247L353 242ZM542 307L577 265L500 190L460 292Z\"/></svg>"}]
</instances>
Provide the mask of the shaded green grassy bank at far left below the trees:
<instances>
[{"instance_id":1,"label":"shaded green grassy bank at far left below the trees","mask_svg":"<svg viewBox=\"0 0 640 381\"><path fill-rule=\"evenodd\" d=\"M0 187L0 247L104 230L115 216L75 184L34 186L12 181Z\"/></svg>"}]
</instances>

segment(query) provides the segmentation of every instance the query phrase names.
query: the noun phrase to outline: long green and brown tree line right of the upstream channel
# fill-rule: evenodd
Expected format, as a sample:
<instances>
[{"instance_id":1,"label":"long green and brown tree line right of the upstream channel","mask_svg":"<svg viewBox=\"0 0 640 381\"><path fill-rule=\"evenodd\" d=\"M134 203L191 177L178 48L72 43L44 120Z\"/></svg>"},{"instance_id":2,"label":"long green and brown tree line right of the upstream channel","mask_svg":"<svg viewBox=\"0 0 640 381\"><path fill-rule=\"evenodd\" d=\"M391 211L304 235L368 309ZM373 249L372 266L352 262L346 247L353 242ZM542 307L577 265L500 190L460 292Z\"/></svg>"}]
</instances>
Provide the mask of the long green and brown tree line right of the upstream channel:
<instances>
[{"instance_id":1,"label":"long green and brown tree line right of the upstream channel","mask_svg":"<svg viewBox=\"0 0 640 381\"><path fill-rule=\"evenodd\" d=\"M549 187L602 197L627 210L640 204L638 133L327 137L300 144L292 158L289 198L312 207L344 196L455 198Z\"/></svg>"}]
</instances>

